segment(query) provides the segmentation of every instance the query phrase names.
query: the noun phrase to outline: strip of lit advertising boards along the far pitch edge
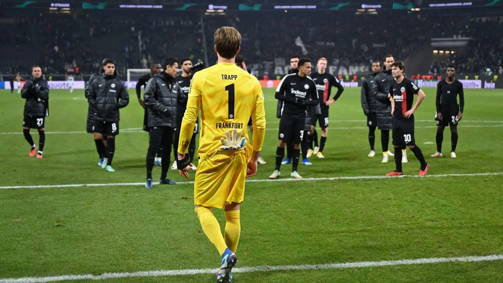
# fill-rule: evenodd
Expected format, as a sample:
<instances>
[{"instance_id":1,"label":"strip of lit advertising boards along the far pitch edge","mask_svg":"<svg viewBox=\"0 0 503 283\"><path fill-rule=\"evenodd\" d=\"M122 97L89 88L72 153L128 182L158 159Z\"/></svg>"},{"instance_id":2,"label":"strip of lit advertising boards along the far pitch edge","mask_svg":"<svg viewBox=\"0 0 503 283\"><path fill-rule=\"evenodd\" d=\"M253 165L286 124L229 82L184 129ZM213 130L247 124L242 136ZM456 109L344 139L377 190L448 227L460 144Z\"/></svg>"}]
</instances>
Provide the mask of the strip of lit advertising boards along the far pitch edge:
<instances>
[{"instance_id":1,"label":"strip of lit advertising boards along the far pitch edge","mask_svg":"<svg viewBox=\"0 0 503 283\"><path fill-rule=\"evenodd\" d=\"M492 83L481 80L459 80L465 89L495 89L496 87L501 88L503 85L499 84L499 82ZM278 87L281 80L260 80L260 84L262 88L276 88ZM70 85L66 81L47 81L50 89L69 89ZM136 81L124 82L128 89L136 88ZM415 80L415 83L420 88L436 88L438 81L437 80ZM21 87L23 87L25 82L21 82ZM358 88L362 86L362 81L358 80L356 82L345 82L341 80L341 85L345 88ZM86 82L84 81L74 81L73 89L83 90L86 88ZM0 89L11 89L11 84L9 82L0 82ZM14 89L18 89L17 82L14 82Z\"/></svg>"}]
</instances>

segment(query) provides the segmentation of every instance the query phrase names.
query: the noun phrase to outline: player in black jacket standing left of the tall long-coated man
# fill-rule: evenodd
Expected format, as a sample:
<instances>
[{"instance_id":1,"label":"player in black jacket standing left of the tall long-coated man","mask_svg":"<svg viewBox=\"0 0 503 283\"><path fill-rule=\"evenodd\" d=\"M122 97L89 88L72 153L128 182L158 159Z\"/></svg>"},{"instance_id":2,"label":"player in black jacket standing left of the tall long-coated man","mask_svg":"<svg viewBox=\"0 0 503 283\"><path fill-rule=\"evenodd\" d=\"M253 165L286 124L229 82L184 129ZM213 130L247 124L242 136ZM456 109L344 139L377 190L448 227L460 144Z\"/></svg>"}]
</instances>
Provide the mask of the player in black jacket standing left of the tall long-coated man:
<instances>
[{"instance_id":1,"label":"player in black jacket standing left of the tall long-coated man","mask_svg":"<svg viewBox=\"0 0 503 283\"><path fill-rule=\"evenodd\" d=\"M379 61L372 62L372 73L365 76L365 80L362 85L362 108L363 113L367 116L367 126L369 127L369 144L370 144L370 153L368 157L374 157L376 155L374 149L375 142L375 131L377 127L377 100L374 97L374 93L372 92L372 85L374 84L375 77L379 74L379 70L381 69L381 63Z\"/></svg>"}]
</instances>

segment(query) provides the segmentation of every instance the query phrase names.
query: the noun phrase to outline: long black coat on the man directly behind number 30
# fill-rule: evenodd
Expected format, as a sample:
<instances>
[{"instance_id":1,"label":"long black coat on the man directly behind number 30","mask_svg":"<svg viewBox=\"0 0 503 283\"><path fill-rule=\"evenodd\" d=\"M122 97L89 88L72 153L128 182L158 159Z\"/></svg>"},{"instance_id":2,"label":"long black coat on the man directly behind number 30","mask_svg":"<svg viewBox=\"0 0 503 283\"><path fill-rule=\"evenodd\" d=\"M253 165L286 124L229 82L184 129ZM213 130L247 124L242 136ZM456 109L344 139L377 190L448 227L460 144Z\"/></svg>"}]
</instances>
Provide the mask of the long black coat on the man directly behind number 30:
<instances>
[{"instance_id":1,"label":"long black coat on the man directly behind number 30","mask_svg":"<svg viewBox=\"0 0 503 283\"><path fill-rule=\"evenodd\" d=\"M372 93L377 102L376 116L377 128L380 130L391 130L393 127L393 116L391 115L391 102L389 101L389 89L394 84L395 79L391 75L391 70L384 70L377 74L372 84Z\"/></svg>"}]
</instances>

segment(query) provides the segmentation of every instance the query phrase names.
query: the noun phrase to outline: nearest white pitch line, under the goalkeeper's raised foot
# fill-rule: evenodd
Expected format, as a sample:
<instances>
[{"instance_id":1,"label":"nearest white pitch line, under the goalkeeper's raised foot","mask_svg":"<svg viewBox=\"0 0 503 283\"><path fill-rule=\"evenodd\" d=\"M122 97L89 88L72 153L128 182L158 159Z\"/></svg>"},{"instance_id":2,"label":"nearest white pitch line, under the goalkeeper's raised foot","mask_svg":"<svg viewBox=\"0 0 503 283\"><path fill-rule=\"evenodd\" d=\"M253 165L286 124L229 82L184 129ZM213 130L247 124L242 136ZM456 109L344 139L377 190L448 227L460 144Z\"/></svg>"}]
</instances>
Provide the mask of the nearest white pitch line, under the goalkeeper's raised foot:
<instances>
[{"instance_id":1,"label":"nearest white pitch line, under the goalkeeper's raised foot","mask_svg":"<svg viewBox=\"0 0 503 283\"><path fill-rule=\"evenodd\" d=\"M444 263L444 262L478 262L478 261L493 261L503 260L502 254L486 255L486 256L462 256L462 257L432 257L418 259L401 259L401 260L384 260L384 261L360 261L346 263L325 263L325 264L300 264L300 265L262 265L251 267L236 267L232 269L234 273L244 272L268 272L279 270L313 270L313 269L342 269L342 268L362 268L372 266L392 266L392 265L411 265L411 264L428 264L428 263ZM194 275L194 274L212 274L215 273L215 268L204 269L179 269L179 270L151 270L137 272L107 272L101 275L82 274L82 275L59 275L47 277L22 277L22 278L5 278L0 279L0 283L46 283L66 280L105 280L116 278L131 278L131 277L158 277L158 276L179 276L179 275Z\"/></svg>"}]
</instances>

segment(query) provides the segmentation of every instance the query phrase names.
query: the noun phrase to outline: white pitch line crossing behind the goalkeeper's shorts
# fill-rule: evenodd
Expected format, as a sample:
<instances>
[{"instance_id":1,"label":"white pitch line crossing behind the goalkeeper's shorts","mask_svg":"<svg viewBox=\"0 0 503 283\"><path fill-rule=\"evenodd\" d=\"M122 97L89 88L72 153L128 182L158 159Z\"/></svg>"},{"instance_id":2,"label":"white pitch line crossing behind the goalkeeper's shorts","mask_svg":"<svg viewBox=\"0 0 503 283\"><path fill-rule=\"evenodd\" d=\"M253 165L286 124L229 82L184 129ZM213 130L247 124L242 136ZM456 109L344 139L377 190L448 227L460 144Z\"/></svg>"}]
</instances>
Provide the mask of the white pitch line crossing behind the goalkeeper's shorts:
<instances>
[{"instance_id":1,"label":"white pitch line crossing behind the goalkeeper's shorts","mask_svg":"<svg viewBox=\"0 0 503 283\"><path fill-rule=\"evenodd\" d=\"M441 177L467 177L467 176L494 176L503 175L503 172L496 173L467 173L467 174L438 174L426 175L421 178L441 178ZM388 177L384 175L378 176L343 176L343 177L320 177L320 178L303 178L303 179L250 179L246 182L301 182L301 181L334 181L334 180L365 180L365 179L389 179L389 178L416 178L418 175L400 175ZM179 185L194 184L194 181L177 182ZM36 185L36 186L3 186L0 189L37 189L37 188L65 188L65 187L103 187L103 186L143 186L142 183L107 183L107 184L68 184L68 185Z\"/></svg>"}]
</instances>

